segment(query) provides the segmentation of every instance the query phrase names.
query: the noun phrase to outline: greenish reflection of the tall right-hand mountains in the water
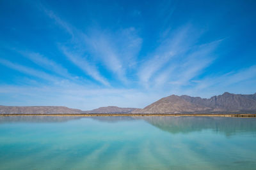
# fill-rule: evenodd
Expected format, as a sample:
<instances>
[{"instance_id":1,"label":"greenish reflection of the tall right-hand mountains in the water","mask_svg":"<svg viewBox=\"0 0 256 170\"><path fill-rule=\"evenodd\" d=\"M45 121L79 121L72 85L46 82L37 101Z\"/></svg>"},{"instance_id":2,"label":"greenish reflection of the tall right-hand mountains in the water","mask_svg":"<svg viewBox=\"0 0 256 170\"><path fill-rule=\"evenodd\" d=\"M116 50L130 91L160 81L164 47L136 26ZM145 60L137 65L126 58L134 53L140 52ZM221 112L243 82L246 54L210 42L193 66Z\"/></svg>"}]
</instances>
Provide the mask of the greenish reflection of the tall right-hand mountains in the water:
<instances>
[{"instance_id":1,"label":"greenish reflection of the tall right-hand mountains in the water","mask_svg":"<svg viewBox=\"0 0 256 170\"><path fill-rule=\"evenodd\" d=\"M230 136L237 132L256 132L256 118L225 117L143 117L149 124L163 131L189 133L211 129Z\"/></svg>"}]
</instances>

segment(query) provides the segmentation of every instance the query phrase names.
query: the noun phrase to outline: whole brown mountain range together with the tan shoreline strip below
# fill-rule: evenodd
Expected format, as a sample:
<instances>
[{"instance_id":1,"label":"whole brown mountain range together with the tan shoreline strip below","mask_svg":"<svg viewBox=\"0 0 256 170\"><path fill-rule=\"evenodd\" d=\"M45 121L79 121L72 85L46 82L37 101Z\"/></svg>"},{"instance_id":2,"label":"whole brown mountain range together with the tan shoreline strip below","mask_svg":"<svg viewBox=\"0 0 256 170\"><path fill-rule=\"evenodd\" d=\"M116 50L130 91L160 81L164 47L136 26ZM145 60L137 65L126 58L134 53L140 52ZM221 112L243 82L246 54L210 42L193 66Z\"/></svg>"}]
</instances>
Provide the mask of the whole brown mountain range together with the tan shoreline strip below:
<instances>
[{"instance_id":1,"label":"whole brown mountain range together with the tan shoreline strip below","mask_svg":"<svg viewBox=\"0 0 256 170\"><path fill-rule=\"evenodd\" d=\"M215 116L255 117L256 93L250 95L225 92L209 99L191 96L168 96L139 108L100 107L82 111L64 106L0 106L0 115L52 115L52 116Z\"/></svg>"}]
</instances>

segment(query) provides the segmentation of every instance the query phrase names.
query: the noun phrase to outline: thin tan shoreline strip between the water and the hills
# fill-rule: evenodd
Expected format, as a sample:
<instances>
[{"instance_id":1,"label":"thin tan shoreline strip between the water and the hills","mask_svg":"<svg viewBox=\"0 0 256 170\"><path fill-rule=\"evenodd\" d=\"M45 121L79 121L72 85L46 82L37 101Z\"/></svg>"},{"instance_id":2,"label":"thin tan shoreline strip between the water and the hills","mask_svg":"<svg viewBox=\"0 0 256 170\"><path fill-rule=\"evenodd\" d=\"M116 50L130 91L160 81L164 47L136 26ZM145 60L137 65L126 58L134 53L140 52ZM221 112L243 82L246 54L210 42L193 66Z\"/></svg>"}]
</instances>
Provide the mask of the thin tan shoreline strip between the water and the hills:
<instances>
[{"instance_id":1,"label":"thin tan shoreline strip between the water and the hills","mask_svg":"<svg viewBox=\"0 0 256 170\"><path fill-rule=\"evenodd\" d=\"M41 116L41 117L256 117L256 114L156 114L156 113L90 113L90 114L0 114L0 117Z\"/></svg>"}]
</instances>

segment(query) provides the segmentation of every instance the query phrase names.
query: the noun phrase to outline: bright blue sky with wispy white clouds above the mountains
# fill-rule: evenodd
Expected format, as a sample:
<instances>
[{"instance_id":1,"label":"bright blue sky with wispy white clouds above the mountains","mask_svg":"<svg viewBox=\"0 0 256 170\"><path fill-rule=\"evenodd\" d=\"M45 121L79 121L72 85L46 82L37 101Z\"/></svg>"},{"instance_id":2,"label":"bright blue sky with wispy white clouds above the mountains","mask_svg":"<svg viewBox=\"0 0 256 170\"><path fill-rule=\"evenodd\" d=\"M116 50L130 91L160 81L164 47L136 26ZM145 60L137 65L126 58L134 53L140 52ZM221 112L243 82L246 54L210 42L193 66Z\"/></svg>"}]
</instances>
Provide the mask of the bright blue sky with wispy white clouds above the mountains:
<instances>
[{"instance_id":1,"label":"bright blue sky with wispy white clouds above the mountains","mask_svg":"<svg viewBox=\"0 0 256 170\"><path fill-rule=\"evenodd\" d=\"M144 108L256 92L256 1L0 1L0 105Z\"/></svg>"}]
</instances>

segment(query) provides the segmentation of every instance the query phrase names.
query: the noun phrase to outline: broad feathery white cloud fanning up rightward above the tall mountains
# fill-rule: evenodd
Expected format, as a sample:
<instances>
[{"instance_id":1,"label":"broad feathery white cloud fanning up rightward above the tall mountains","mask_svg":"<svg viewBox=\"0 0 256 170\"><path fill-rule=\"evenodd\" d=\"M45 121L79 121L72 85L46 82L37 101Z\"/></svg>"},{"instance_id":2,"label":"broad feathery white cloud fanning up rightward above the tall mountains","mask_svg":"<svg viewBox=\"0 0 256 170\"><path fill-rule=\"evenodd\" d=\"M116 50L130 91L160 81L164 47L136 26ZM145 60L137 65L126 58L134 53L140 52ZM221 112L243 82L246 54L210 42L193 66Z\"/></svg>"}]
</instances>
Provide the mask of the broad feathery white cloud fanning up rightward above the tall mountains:
<instances>
[{"instance_id":1,"label":"broad feathery white cloud fanning up rightward above the tall mountains","mask_svg":"<svg viewBox=\"0 0 256 170\"><path fill-rule=\"evenodd\" d=\"M221 40L204 45L196 45L196 39L202 32L191 35L195 28L185 25L179 31L166 33L159 47L143 63L138 72L140 83L145 87L170 88L188 85L189 81L198 76L212 64L215 59L214 50Z\"/></svg>"}]
</instances>

